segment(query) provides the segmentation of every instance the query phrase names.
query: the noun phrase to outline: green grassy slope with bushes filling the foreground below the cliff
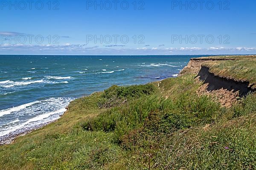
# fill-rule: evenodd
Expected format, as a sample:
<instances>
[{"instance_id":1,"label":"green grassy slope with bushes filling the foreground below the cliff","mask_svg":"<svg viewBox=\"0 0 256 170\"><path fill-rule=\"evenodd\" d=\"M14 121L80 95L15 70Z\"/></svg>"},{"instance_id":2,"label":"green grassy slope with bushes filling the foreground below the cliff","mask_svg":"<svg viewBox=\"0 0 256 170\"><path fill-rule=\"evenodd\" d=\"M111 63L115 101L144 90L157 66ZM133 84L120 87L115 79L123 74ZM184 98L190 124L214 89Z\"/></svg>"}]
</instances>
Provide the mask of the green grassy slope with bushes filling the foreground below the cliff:
<instances>
[{"instance_id":1,"label":"green grassy slope with bushes filling the foreground below the cliff","mask_svg":"<svg viewBox=\"0 0 256 170\"><path fill-rule=\"evenodd\" d=\"M57 122L0 146L0 169L256 169L256 95L198 97L195 75L77 99Z\"/></svg>"}]
</instances>

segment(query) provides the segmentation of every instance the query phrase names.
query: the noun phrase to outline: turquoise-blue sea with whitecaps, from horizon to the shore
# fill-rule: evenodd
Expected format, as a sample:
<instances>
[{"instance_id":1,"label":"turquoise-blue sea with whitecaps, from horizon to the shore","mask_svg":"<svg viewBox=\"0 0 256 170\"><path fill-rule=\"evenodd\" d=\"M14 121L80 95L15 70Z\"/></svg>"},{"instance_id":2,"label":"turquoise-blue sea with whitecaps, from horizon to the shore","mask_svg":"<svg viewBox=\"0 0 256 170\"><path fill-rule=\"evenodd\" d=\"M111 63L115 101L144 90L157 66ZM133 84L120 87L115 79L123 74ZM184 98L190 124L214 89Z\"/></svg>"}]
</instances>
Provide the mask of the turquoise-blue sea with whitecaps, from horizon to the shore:
<instances>
[{"instance_id":1,"label":"turquoise-blue sea with whitecaps, from horizon to the shore","mask_svg":"<svg viewBox=\"0 0 256 170\"><path fill-rule=\"evenodd\" d=\"M73 99L111 85L176 77L201 56L0 56L0 141L54 121Z\"/></svg>"}]
</instances>

